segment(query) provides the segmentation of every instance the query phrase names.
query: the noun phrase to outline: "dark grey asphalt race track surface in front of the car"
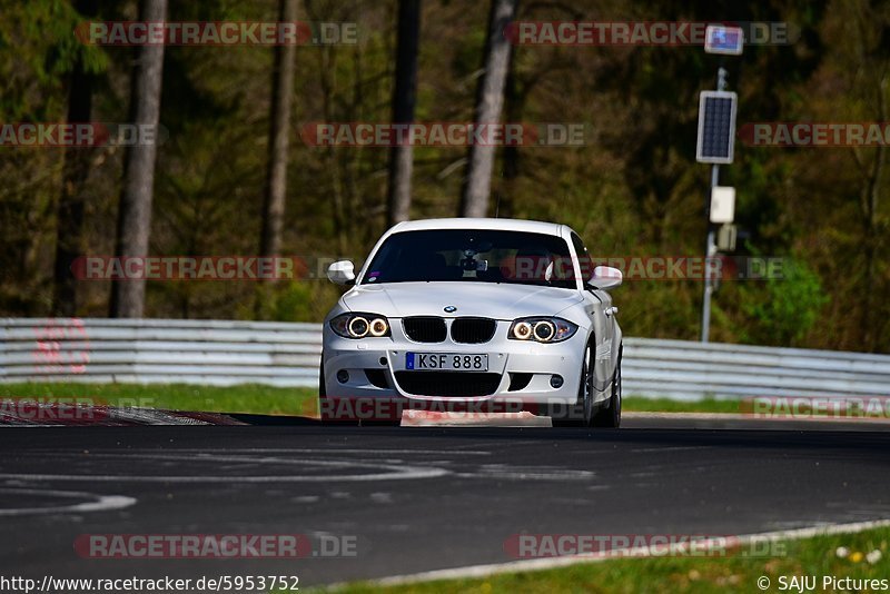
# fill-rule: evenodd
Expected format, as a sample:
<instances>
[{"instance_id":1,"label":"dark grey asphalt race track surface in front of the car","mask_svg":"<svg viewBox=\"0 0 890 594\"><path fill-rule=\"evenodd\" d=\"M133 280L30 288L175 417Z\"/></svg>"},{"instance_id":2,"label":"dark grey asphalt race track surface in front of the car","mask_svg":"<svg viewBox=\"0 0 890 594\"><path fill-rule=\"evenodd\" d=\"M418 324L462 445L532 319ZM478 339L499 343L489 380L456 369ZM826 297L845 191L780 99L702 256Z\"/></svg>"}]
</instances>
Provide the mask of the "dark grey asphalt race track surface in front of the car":
<instances>
[{"instance_id":1,"label":"dark grey asphalt race track surface in front of the car","mask_svg":"<svg viewBox=\"0 0 890 594\"><path fill-rule=\"evenodd\" d=\"M690 428L706 424L0 429L2 573L286 574L312 586L515 561L504 544L520 533L733 535L890 517L886 428ZM73 546L121 533L303 534L315 554L327 538L354 555L118 560Z\"/></svg>"}]
</instances>

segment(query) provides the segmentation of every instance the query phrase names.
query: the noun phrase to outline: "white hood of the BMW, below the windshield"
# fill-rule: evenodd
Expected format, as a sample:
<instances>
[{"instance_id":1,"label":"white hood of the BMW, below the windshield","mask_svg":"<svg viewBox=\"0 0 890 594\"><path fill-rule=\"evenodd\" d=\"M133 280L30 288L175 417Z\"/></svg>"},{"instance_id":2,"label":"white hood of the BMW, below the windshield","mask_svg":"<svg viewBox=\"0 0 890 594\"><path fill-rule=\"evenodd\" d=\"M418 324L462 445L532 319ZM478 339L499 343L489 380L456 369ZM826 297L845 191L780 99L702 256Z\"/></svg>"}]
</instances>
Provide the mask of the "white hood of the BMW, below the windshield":
<instances>
[{"instance_id":1,"label":"white hood of the BMW, below the windshield","mask_svg":"<svg viewBox=\"0 0 890 594\"><path fill-rule=\"evenodd\" d=\"M360 285L343 296L353 311L387 317L479 316L514 319L553 316L583 298L575 290L496 283L388 283ZM444 310L447 306L457 309Z\"/></svg>"}]
</instances>

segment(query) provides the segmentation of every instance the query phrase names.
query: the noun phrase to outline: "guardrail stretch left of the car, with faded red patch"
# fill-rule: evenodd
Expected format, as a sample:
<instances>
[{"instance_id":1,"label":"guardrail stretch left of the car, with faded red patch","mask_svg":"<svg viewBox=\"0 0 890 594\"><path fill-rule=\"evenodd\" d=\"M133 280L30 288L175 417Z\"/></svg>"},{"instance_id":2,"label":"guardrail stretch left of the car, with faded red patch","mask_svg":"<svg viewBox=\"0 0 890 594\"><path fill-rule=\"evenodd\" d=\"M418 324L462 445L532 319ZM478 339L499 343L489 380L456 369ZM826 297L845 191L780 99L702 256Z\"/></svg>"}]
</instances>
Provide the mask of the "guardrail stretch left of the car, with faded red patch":
<instances>
[{"instance_id":1,"label":"guardrail stretch left of the car, with faded red patch","mask_svg":"<svg viewBox=\"0 0 890 594\"><path fill-rule=\"evenodd\" d=\"M0 382L317 386L319 324L2 320Z\"/></svg>"}]
</instances>

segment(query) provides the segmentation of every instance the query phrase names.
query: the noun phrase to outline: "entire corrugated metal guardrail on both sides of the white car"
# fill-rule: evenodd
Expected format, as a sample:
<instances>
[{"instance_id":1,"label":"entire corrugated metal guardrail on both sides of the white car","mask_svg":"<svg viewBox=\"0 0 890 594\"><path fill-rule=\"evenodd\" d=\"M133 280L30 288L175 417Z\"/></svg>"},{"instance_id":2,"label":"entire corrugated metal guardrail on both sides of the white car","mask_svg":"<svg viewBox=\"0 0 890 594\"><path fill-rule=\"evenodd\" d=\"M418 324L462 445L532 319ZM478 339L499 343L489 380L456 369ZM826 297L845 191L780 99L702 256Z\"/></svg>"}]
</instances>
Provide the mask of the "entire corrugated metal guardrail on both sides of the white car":
<instances>
[{"instance_id":1,"label":"entire corrugated metal guardrail on both sides of the white car","mask_svg":"<svg viewBox=\"0 0 890 594\"><path fill-rule=\"evenodd\" d=\"M23 319L0 325L0 383L317 385L320 325L176 319ZM626 338L624 392L888 396L890 356Z\"/></svg>"}]
</instances>

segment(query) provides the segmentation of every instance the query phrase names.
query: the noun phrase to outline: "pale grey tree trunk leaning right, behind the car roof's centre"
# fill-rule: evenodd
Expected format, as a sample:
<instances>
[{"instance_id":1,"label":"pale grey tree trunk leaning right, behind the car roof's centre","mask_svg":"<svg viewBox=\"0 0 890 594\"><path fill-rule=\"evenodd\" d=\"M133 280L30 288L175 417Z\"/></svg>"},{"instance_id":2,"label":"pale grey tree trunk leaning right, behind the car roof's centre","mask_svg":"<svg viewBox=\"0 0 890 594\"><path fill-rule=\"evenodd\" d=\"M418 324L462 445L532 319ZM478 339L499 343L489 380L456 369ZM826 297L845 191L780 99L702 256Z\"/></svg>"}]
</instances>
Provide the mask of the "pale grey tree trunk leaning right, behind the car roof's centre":
<instances>
[{"instance_id":1,"label":"pale grey tree trunk leaning right, behind the car roof's centre","mask_svg":"<svg viewBox=\"0 0 890 594\"><path fill-rule=\"evenodd\" d=\"M513 20L517 3L518 0L492 0L485 66L476 93L477 125L497 123L501 118L511 55L511 43L504 29ZM461 215L464 217L484 217L488 212L494 154L494 146L469 147L467 172L461 195Z\"/></svg>"}]
</instances>

